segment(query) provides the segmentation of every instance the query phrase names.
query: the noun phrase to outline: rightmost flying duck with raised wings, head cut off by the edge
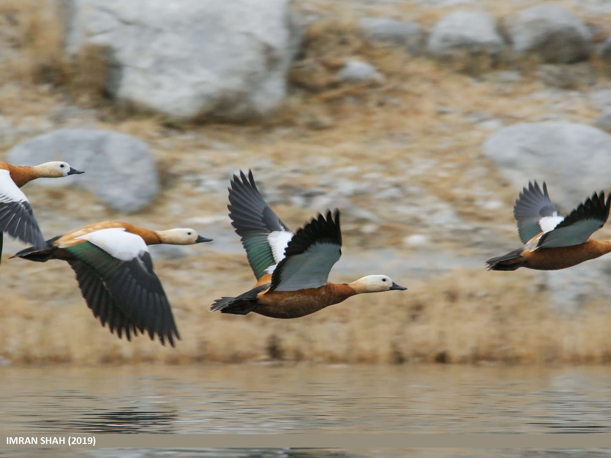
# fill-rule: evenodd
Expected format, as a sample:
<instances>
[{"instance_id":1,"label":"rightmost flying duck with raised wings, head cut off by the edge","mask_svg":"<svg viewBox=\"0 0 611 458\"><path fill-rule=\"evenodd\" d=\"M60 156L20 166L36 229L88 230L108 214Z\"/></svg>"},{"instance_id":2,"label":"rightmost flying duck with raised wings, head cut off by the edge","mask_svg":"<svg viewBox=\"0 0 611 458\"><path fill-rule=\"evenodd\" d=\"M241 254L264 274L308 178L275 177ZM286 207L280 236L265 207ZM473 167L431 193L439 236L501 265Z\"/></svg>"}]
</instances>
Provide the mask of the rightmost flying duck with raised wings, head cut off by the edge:
<instances>
[{"instance_id":1,"label":"rightmost flying duck with raised wings, head cut off by the edge","mask_svg":"<svg viewBox=\"0 0 611 458\"><path fill-rule=\"evenodd\" d=\"M521 248L507 255L486 261L488 270L514 271L519 267L539 271L566 269L611 252L611 240L598 241L590 236L609 218L611 195L595 192L579 204L567 217L549 199L547 186L543 192L536 183L522 190L513 216L518 222Z\"/></svg>"}]
</instances>

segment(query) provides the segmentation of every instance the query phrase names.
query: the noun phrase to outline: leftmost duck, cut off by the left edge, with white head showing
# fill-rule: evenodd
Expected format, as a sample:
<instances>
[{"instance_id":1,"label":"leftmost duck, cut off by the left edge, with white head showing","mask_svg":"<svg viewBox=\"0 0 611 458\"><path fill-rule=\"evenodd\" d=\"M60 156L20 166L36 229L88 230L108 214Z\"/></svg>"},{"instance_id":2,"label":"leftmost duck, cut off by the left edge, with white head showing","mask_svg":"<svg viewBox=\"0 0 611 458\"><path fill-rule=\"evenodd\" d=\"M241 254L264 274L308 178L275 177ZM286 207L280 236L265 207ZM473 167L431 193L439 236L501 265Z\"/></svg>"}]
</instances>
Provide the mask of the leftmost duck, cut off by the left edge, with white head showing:
<instances>
[{"instance_id":1,"label":"leftmost duck, cut off by the left edge, with white head showing","mask_svg":"<svg viewBox=\"0 0 611 458\"><path fill-rule=\"evenodd\" d=\"M84 172L73 169L67 162L45 162L30 167L0 161L0 255L4 233L39 247L45 245L32 207L19 188L36 178L60 178L76 173Z\"/></svg>"}]
</instances>

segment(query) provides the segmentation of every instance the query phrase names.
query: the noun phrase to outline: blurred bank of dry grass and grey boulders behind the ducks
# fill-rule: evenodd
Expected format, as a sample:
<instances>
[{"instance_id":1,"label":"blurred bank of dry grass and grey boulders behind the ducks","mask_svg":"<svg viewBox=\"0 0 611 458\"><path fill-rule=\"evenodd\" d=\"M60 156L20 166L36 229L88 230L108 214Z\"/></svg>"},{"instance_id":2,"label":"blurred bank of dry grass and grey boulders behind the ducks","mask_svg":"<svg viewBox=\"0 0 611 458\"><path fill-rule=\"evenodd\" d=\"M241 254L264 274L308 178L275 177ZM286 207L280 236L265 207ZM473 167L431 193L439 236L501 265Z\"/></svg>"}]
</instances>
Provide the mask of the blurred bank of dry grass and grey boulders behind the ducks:
<instances>
[{"instance_id":1,"label":"blurred bank of dry grass and grey boulders behind the ducks","mask_svg":"<svg viewBox=\"0 0 611 458\"><path fill-rule=\"evenodd\" d=\"M0 159L86 170L24 188L43 233L118 219L214 242L152 249L175 349L110 335L66 263L5 242L0 360L609 362L611 258L483 263L520 246L529 180L565 213L611 191L610 35L603 0L2 0ZM330 280L408 291L208 312L254 284L227 216L249 168L293 230L341 209Z\"/></svg>"}]
</instances>

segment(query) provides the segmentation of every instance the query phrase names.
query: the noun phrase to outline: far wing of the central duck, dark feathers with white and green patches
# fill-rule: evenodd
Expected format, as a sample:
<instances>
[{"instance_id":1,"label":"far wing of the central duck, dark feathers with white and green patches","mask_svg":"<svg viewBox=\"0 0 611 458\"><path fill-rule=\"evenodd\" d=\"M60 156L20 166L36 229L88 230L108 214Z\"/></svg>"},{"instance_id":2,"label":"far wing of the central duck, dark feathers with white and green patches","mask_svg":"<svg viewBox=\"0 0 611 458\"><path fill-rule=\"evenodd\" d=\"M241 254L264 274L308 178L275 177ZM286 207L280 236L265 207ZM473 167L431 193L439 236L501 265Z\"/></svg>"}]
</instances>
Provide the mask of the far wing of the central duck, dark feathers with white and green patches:
<instances>
[{"instance_id":1,"label":"far wing of the central duck, dark feathers with white and green patches","mask_svg":"<svg viewBox=\"0 0 611 458\"><path fill-rule=\"evenodd\" d=\"M284 258L284 250L293 233L263 200L251 170L248 176L241 171L240 177L233 175L229 204L232 225L242 238L255 277L261 278L265 269Z\"/></svg>"}]
</instances>

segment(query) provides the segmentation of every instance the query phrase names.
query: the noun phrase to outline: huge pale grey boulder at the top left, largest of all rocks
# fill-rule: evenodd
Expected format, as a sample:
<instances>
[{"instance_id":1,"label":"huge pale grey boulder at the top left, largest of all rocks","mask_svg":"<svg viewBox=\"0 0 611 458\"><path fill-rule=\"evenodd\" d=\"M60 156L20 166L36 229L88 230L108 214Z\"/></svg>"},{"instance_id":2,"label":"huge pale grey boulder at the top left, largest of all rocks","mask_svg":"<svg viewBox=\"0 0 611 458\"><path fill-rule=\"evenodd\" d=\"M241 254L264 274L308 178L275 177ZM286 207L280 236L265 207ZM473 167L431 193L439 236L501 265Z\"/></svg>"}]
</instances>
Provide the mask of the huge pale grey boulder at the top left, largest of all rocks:
<instances>
[{"instance_id":1,"label":"huge pale grey boulder at the top left, largest of all rocks","mask_svg":"<svg viewBox=\"0 0 611 458\"><path fill-rule=\"evenodd\" d=\"M243 120L285 96L288 0L68 0L67 51L108 50L106 89L174 118Z\"/></svg>"}]
</instances>

